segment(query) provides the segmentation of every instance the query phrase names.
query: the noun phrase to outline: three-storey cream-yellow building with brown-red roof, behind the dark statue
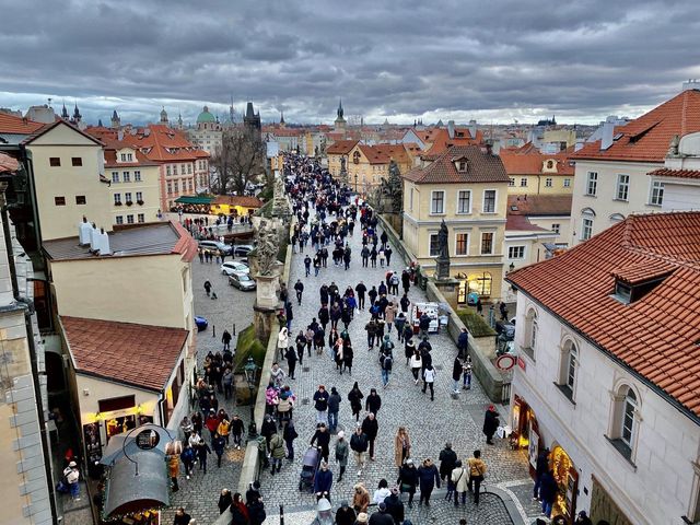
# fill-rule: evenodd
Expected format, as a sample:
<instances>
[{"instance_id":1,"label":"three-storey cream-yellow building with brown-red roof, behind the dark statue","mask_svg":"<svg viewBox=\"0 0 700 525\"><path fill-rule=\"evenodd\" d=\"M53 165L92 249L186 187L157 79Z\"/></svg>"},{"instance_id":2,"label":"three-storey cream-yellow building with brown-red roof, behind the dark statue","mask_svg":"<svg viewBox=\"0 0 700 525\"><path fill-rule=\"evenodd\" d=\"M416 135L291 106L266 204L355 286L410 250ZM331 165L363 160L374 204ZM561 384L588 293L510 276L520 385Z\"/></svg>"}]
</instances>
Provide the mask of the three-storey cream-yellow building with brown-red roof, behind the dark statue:
<instances>
[{"instance_id":1,"label":"three-storey cream-yellow building with brown-red roof, behind the dark statue","mask_svg":"<svg viewBox=\"0 0 700 525\"><path fill-rule=\"evenodd\" d=\"M404 242L432 273L445 221L460 303L470 292L491 300L502 296L508 183L501 160L477 145L423 156L420 166L404 175Z\"/></svg>"}]
</instances>

